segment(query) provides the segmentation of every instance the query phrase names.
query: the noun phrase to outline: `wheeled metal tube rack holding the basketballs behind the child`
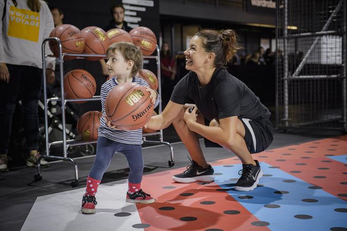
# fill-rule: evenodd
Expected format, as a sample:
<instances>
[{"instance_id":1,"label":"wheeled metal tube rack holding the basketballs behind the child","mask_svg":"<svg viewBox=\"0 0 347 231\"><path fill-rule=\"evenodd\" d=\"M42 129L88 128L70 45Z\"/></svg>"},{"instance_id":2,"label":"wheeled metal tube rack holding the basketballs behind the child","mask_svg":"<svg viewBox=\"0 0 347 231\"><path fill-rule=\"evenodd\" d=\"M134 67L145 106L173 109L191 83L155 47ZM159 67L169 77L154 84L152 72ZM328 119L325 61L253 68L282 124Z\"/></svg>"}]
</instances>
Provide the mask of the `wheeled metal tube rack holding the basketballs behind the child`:
<instances>
[{"instance_id":1,"label":"wheeled metal tube rack holding the basketballs behind the child","mask_svg":"<svg viewBox=\"0 0 347 231\"><path fill-rule=\"evenodd\" d=\"M41 158L47 159L47 160L61 160L61 161L69 161L73 164L75 167L75 180L71 182L72 187L77 187L79 185L79 174L78 174L78 166L75 160L73 158L67 157L67 149L69 147L73 146L79 146L79 145L87 145L87 144L93 144L96 143L96 141L81 141L79 139L66 139L66 133L69 131L66 129L66 124L65 124L65 105L67 102L77 102L77 101L98 101L101 100L100 96L93 96L92 98L78 98L78 99L65 99L64 98L64 81L63 81L63 63L64 63L64 57L65 56L75 56L78 57L78 59L84 59L85 57L101 57L101 58L106 58L105 55L93 55L93 54L70 54L70 53L62 53L62 45L60 42L60 39L57 37L50 37L46 38L42 42L42 47L41 47L41 52L42 52L42 69L46 69L46 58L47 57L53 57L52 55L45 55L45 48L46 48L46 43L48 41L57 41L58 46L59 46L59 77L60 77L60 90L61 90L61 97L53 97L53 98L47 98L47 80L46 80L46 72L43 72L43 96L44 96L44 129L45 129L45 149L46 153L45 155L42 155L39 157L37 160L37 174L34 176L35 181L41 181L42 179L42 174L41 174ZM156 45L156 51L157 51L157 56L143 56L144 59L155 59L156 64L157 64L157 78L158 78L158 90L159 90L159 95L161 95L161 78L160 78L160 50L159 46ZM54 141L54 142L49 142L49 137L48 137L48 102L53 102L53 101L60 101L61 102L61 122L62 122L62 131L63 132L63 140L61 141ZM161 101L159 102L159 114L162 112L162 104ZM156 136L159 135L159 141L156 140L147 140L146 138L149 136ZM170 159L168 161L168 165L174 166L175 161L174 161L174 149L172 148L172 145L169 142L164 142L163 141L163 130L159 130L154 133L147 133L143 134L143 142L145 143L150 143L150 144L163 144L166 145L170 148ZM60 156L51 156L49 155L49 149L52 146L55 145L63 145L63 157ZM92 157L92 156L90 156Z\"/></svg>"}]
</instances>

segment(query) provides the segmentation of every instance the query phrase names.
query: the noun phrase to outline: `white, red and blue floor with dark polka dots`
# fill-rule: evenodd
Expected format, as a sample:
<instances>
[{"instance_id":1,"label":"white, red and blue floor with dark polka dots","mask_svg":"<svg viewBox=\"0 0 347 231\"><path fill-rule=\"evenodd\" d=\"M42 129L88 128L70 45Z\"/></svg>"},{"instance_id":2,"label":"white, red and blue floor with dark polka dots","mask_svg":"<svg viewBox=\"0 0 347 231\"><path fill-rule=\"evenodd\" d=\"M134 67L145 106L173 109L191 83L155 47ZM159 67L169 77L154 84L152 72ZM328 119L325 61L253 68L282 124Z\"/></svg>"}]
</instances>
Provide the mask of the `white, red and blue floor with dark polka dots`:
<instances>
[{"instance_id":1,"label":"white, red and blue floor with dark polka dots","mask_svg":"<svg viewBox=\"0 0 347 231\"><path fill-rule=\"evenodd\" d=\"M264 175L250 192L234 190L242 166L233 157L211 163L212 183L173 182L184 168L145 175L152 204L125 202L127 181L102 184L93 215L79 212L84 189L38 197L21 230L347 230L347 136L254 158Z\"/></svg>"}]
</instances>

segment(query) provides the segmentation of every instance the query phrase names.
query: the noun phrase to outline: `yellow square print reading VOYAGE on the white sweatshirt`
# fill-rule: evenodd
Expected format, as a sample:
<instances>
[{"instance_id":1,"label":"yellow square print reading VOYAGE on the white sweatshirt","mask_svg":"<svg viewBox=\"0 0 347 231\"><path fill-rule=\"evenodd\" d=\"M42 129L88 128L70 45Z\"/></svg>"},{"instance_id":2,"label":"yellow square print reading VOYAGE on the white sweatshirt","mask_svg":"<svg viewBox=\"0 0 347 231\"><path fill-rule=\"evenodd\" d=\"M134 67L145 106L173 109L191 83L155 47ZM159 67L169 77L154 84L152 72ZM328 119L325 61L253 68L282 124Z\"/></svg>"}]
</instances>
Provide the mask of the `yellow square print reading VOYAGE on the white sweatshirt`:
<instances>
[{"instance_id":1,"label":"yellow square print reading VOYAGE on the white sweatshirt","mask_svg":"<svg viewBox=\"0 0 347 231\"><path fill-rule=\"evenodd\" d=\"M39 30L40 13L10 7L8 36L38 42Z\"/></svg>"}]
</instances>

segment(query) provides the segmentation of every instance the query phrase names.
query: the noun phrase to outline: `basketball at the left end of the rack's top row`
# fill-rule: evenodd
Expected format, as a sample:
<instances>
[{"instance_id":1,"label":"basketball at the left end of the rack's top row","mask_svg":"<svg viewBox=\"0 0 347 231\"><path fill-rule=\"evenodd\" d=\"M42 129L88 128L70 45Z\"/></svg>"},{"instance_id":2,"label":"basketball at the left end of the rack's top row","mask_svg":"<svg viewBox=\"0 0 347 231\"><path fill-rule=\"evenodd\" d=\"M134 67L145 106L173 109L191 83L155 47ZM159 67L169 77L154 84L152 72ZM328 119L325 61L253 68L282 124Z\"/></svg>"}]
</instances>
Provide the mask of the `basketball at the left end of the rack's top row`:
<instances>
[{"instance_id":1,"label":"basketball at the left end of the rack's top row","mask_svg":"<svg viewBox=\"0 0 347 231\"><path fill-rule=\"evenodd\" d=\"M84 50L84 37L77 27L70 24L58 25L49 37L57 37L60 39L62 46L62 53L74 53L81 54ZM55 57L59 57L59 46L58 42L51 40L48 42L49 48L51 48L52 53ZM76 59L75 56L64 56L64 60Z\"/></svg>"}]
</instances>

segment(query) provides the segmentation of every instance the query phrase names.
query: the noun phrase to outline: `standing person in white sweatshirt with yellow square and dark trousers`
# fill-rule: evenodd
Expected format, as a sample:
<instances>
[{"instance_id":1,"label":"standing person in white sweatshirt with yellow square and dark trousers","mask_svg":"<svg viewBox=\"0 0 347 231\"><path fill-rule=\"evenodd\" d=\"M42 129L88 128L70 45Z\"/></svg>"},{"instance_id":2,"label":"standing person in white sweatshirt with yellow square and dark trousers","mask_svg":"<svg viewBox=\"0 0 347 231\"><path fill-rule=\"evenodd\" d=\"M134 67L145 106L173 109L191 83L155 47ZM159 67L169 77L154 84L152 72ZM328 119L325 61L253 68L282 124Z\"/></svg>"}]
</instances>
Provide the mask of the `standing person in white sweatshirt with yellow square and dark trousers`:
<instances>
[{"instance_id":1,"label":"standing person in white sweatshirt with yellow square and dark trousers","mask_svg":"<svg viewBox=\"0 0 347 231\"><path fill-rule=\"evenodd\" d=\"M16 20L20 15L21 20ZM10 16L14 20L10 20ZM28 166L39 158L38 101L42 88L42 41L54 29L44 1L0 1L0 171L7 171L7 153L17 96L21 99L24 132L29 149ZM49 52L48 44L46 51ZM55 80L54 58L47 58L47 83ZM18 95L17 95L18 94ZM48 162L41 159L42 167Z\"/></svg>"}]
</instances>

